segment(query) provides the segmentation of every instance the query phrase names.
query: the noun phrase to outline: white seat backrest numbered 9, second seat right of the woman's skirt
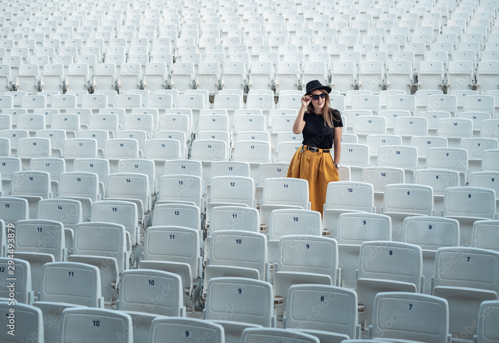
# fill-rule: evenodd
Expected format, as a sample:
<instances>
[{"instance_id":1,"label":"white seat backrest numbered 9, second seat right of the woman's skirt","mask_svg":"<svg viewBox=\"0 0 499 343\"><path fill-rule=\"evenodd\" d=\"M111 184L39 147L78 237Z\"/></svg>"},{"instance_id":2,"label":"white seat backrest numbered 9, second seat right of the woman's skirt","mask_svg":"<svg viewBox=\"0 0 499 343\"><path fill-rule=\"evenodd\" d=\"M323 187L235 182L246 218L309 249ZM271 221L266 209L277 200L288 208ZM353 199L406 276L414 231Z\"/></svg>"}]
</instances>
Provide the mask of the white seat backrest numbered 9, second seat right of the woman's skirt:
<instances>
[{"instance_id":1,"label":"white seat backrest numbered 9, second seat right of the woman's skirt","mask_svg":"<svg viewBox=\"0 0 499 343\"><path fill-rule=\"evenodd\" d=\"M433 214L433 188L414 184L390 184L385 187L383 213Z\"/></svg>"}]
</instances>

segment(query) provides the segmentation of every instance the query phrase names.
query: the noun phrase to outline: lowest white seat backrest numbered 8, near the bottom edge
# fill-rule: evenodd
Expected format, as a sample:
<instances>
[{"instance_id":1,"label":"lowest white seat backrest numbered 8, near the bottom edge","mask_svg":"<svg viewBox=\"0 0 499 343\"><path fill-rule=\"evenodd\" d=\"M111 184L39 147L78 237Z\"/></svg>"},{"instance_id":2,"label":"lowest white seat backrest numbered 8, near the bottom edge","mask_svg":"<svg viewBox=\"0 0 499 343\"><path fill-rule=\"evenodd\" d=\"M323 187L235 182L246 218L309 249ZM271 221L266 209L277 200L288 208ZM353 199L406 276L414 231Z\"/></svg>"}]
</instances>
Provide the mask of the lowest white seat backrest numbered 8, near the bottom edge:
<instances>
[{"instance_id":1,"label":"lowest white seat backrest numbered 8, near the bottom edge","mask_svg":"<svg viewBox=\"0 0 499 343\"><path fill-rule=\"evenodd\" d=\"M306 304L306 305L305 305ZM356 337L358 325L357 293L327 285L293 285L289 288L283 327L319 330ZM314 313L322 309L321 316ZM345 309L345 311L338 311Z\"/></svg>"}]
</instances>

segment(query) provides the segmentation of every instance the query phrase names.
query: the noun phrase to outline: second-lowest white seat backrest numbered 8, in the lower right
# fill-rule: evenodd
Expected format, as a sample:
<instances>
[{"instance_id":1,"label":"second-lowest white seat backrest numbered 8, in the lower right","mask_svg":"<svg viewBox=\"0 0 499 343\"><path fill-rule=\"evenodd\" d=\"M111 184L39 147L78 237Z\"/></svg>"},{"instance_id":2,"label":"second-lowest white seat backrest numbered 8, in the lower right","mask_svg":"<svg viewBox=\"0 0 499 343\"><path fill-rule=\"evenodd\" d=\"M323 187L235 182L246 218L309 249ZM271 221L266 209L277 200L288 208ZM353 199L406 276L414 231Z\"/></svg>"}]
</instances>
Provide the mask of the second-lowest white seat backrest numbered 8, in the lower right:
<instances>
[{"instance_id":1,"label":"second-lowest white seat backrest numbered 8, in the lower right","mask_svg":"<svg viewBox=\"0 0 499 343\"><path fill-rule=\"evenodd\" d=\"M410 283L416 286L416 292L419 293L423 274L422 254L421 247L413 244L390 241L363 242L360 247L359 279Z\"/></svg>"}]
</instances>

